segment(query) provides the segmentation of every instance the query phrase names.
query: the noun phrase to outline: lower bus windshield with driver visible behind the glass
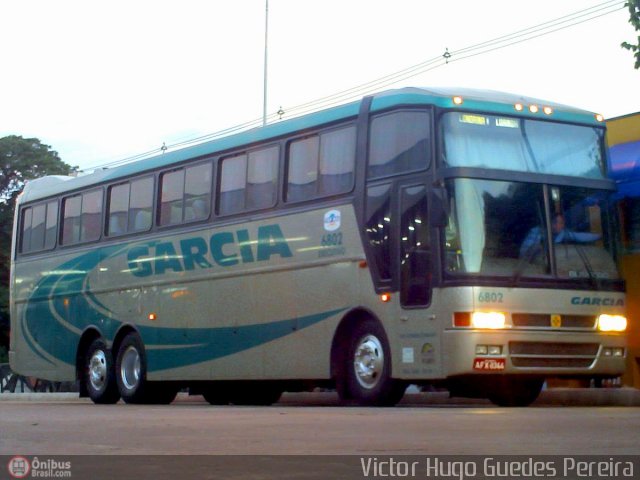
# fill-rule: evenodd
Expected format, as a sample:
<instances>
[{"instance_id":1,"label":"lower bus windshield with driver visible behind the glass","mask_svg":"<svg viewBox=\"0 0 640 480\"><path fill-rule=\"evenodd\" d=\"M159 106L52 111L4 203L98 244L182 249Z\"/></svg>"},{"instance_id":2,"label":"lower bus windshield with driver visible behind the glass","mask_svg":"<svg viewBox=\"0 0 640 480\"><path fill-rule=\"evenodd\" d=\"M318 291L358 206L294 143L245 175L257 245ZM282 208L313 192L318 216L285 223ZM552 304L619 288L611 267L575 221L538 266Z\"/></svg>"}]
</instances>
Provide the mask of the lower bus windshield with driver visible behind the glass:
<instances>
[{"instance_id":1,"label":"lower bus windshield with driver visible behind the glass","mask_svg":"<svg viewBox=\"0 0 640 480\"><path fill-rule=\"evenodd\" d=\"M446 185L451 205L445 230L448 273L516 280L620 278L609 192L468 178Z\"/></svg>"}]
</instances>

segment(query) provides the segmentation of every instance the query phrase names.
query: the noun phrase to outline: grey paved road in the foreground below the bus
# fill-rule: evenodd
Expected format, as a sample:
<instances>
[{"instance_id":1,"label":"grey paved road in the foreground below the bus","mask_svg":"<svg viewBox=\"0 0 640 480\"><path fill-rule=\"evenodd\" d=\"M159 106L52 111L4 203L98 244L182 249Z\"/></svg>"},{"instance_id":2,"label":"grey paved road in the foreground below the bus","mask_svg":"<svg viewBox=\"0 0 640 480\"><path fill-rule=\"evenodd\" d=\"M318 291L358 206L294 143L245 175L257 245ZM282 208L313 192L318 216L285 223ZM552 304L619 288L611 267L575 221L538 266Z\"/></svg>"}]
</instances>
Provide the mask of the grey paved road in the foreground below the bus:
<instances>
[{"instance_id":1,"label":"grey paved road in the foreground below the bus","mask_svg":"<svg viewBox=\"0 0 640 480\"><path fill-rule=\"evenodd\" d=\"M345 408L331 394L272 407L3 401L0 454L564 454L640 452L639 407Z\"/></svg>"}]
</instances>

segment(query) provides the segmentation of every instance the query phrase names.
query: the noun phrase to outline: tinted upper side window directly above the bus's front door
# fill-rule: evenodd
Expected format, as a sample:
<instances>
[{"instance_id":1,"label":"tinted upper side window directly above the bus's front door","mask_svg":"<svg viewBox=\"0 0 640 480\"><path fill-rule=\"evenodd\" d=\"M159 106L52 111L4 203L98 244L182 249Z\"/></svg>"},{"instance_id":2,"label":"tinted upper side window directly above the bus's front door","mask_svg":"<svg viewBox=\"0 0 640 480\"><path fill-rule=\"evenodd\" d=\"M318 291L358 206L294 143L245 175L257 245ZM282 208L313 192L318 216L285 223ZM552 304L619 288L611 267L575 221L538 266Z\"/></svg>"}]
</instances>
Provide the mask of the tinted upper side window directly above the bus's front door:
<instances>
[{"instance_id":1,"label":"tinted upper side window directly above the bus's front door","mask_svg":"<svg viewBox=\"0 0 640 480\"><path fill-rule=\"evenodd\" d=\"M369 139L369 178L422 170L429 165L430 116L395 112L375 117Z\"/></svg>"}]
</instances>

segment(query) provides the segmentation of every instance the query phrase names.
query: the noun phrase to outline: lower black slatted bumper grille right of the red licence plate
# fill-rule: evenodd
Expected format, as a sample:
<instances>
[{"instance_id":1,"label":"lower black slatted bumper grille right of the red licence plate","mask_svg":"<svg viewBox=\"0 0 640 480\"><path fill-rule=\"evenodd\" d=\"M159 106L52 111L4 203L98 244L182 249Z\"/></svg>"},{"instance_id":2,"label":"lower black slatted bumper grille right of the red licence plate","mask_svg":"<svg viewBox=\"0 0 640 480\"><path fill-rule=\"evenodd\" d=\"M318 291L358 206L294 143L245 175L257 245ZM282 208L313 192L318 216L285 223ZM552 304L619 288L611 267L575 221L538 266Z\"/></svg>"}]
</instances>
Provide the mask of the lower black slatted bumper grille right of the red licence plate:
<instances>
[{"instance_id":1,"label":"lower black slatted bumper grille right of the red licence plate","mask_svg":"<svg viewBox=\"0 0 640 480\"><path fill-rule=\"evenodd\" d=\"M598 355L597 343L509 342L514 367L589 368Z\"/></svg>"}]
</instances>

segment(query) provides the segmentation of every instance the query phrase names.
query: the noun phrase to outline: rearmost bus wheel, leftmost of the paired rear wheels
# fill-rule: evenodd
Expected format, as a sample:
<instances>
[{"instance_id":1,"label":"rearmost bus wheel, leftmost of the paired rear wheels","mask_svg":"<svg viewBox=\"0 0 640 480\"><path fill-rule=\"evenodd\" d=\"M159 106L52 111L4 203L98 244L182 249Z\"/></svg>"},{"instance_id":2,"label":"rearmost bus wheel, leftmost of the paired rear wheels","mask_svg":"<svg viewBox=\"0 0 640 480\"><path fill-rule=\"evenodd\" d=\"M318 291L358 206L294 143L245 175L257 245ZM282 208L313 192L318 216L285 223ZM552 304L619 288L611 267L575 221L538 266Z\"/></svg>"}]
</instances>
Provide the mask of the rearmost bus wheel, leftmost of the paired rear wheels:
<instances>
[{"instance_id":1,"label":"rearmost bus wheel, leftmost of the paired rear wheels","mask_svg":"<svg viewBox=\"0 0 640 480\"><path fill-rule=\"evenodd\" d=\"M120 400L113 356L101 338L95 339L83 359L83 388L97 404L113 404Z\"/></svg>"}]
</instances>

